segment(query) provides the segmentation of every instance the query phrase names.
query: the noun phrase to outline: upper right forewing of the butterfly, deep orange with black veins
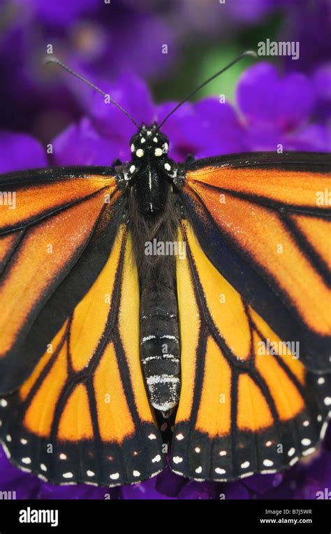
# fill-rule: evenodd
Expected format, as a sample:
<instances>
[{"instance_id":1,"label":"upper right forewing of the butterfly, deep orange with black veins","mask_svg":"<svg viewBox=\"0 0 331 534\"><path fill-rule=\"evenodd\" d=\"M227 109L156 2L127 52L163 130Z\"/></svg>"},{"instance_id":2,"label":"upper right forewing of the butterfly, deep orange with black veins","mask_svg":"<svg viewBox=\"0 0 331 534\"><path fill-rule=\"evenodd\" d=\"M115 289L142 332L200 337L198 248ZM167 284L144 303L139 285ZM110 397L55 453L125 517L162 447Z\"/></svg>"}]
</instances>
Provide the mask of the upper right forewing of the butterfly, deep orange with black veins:
<instances>
[{"instance_id":1,"label":"upper right forewing of the butterfly, deep orange with black veins","mask_svg":"<svg viewBox=\"0 0 331 534\"><path fill-rule=\"evenodd\" d=\"M311 370L330 367L330 155L202 160L182 198L213 265Z\"/></svg>"}]
</instances>

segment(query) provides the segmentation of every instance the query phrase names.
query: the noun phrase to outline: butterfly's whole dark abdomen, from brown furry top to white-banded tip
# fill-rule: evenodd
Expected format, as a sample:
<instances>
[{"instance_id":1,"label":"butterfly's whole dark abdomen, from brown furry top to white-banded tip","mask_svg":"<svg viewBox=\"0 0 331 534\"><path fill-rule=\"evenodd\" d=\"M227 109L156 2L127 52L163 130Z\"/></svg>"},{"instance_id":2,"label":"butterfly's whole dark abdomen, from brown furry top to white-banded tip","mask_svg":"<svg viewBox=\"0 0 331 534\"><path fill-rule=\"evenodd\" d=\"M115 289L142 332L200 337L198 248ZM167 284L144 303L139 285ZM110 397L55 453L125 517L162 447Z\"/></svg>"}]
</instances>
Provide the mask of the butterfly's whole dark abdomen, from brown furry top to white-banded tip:
<instances>
[{"instance_id":1,"label":"butterfly's whole dark abdomen, from brown furry top to white-banded tip","mask_svg":"<svg viewBox=\"0 0 331 534\"><path fill-rule=\"evenodd\" d=\"M154 184L156 185L156 184ZM156 190L158 188L156 187ZM156 216L144 213L142 192L128 199L128 223L140 281L140 360L151 405L170 415L180 392L175 244L179 213L168 186Z\"/></svg>"}]
</instances>

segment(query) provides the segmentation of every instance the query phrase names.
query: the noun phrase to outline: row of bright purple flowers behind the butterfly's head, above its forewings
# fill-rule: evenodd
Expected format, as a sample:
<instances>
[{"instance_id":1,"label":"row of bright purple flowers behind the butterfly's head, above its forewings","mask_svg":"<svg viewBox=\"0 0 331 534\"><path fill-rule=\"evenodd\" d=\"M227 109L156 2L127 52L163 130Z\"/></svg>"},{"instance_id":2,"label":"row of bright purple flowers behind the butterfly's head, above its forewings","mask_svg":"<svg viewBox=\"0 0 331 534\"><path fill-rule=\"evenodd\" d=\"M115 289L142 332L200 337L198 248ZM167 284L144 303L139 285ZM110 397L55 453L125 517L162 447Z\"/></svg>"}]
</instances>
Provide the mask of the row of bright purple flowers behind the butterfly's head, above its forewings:
<instances>
[{"instance_id":1,"label":"row of bright purple flowers behind the butterfly's head, above its forewings","mask_svg":"<svg viewBox=\"0 0 331 534\"><path fill-rule=\"evenodd\" d=\"M279 76L267 62L247 69L237 85L237 105L223 97L209 97L184 104L165 123L170 139L170 157L183 161L252 150L330 150L330 90L324 81L330 70L316 71L313 79L303 73ZM136 122L147 125L160 120L175 103L156 105L145 83L133 74L123 74L116 84L103 87ZM53 141L52 155L35 139L24 134L0 135L0 171L55 165L110 165L130 158L128 140L135 126L112 104L80 85L77 92L84 117ZM321 114L323 120L314 120ZM20 155L20 157L18 157Z\"/></svg>"}]
</instances>

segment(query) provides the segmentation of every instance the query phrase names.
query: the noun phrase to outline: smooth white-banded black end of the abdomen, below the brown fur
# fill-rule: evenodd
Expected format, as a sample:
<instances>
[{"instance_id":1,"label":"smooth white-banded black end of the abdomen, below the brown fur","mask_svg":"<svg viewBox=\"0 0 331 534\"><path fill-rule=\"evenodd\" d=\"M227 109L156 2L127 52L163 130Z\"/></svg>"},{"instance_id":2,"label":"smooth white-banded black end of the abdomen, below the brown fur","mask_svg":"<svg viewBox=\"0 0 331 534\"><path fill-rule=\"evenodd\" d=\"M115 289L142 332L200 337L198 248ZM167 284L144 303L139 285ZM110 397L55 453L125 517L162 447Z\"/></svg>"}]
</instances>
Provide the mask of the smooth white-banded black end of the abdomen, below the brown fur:
<instances>
[{"instance_id":1,"label":"smooth white-banded black end of the abdomen, below the brown fur","mask_svg":"<svg viewBox=\"0 0 331 534\"><path fill-rule=\"evenodd\" d=\"M142 287L140 358L149 400L168 416L180 393L178 311L172 283Z\"/></svg>"}]
</instances>

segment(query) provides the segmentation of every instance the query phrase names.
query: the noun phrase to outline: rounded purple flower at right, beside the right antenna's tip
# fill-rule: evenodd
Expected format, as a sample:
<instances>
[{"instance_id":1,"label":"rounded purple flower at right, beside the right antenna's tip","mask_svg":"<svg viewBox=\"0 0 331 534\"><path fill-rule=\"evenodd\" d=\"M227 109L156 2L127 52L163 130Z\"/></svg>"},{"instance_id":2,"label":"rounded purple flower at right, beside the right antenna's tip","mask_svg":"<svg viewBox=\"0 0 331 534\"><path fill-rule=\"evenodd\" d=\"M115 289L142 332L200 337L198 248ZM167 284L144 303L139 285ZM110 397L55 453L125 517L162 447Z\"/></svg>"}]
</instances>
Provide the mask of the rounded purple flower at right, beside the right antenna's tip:
<instances>
[{"instance_id":1,"label":"rounded purple flower at right, beside the right antenna's tip","mask_svg":"<svg viewBox=\"0 0 331 534\"><path fill-rule=\"evenodd\" d=\"M248 150L329 150L330 132L311 122L321 94L302 73L280 77L260 62L247 69L237 86L237 102L246 128Z\"/></svg>"}]
</instances>

